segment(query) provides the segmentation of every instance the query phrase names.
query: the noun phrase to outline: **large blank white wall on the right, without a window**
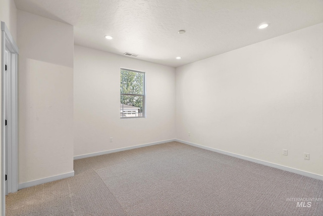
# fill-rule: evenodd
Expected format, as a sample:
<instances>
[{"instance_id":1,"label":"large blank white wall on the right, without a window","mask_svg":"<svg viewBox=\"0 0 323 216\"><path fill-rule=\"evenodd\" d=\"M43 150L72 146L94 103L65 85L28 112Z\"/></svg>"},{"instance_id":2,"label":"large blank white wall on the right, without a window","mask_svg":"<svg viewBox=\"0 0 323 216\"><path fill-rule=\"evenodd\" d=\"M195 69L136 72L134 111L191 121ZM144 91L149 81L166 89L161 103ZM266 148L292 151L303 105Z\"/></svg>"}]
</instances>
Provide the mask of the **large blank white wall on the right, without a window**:
<instances>
[{"instance_id":1,"label":"large blank white wall on the right, without a window","mask_svg":"<svg viewBox=\"0 0 323 216\"><path fill-rule=\"evenodd\" d=\"M323 175L322 38L318 24L176 68L177 139Z\"/></svg>"}]
</instances>

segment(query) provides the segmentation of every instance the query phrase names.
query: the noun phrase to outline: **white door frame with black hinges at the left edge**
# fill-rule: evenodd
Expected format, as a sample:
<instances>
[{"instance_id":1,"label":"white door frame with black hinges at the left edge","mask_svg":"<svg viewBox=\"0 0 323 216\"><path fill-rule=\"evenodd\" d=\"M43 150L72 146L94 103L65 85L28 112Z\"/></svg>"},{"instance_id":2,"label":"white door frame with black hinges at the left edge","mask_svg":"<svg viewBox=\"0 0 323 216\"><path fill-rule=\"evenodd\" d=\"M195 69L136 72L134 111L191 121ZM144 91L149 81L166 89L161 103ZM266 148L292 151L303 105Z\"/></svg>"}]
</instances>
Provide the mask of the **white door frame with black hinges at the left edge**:
<instances>
[{"instance_id":1,"label":"white door frame with black hinges at the left edge","mask_svg":"<svg viewBox=\"0 0 323 216\"><path fill-rule=\"evenodd\" d=\"M6 174L5 167L8 165L8 192L18 191L18 92L17 92L17 73L18 73L18 47L13 39L9 29L4 22L1 22L1 42L2 42L2 113L1 113L1 197L2 197L2 215L5 215L6 206ZM5 80L5 52L8 51L8 91ZM7 94L9 94L7 100ZM5 111L8 109L8 112ZM7 114L7 126L6 126ZM7 133L6 133L7 128ZM6 149L6 134L8 135L8 149ZM6 158L6 152L8 158ZM8 164L7 164L8 161Z\"/></svg>"}]
</instances>

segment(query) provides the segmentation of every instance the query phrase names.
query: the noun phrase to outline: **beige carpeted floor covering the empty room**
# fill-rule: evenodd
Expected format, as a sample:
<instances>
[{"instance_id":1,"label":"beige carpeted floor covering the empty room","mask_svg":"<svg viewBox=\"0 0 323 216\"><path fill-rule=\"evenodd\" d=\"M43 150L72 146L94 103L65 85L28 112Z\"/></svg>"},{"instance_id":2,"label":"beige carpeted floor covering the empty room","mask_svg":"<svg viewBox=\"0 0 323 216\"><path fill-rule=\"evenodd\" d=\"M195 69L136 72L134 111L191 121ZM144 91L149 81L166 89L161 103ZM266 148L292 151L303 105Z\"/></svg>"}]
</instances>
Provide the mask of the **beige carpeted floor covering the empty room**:
<instances>
[{"instance_id":1,"label":"beige carpeted floor covering the empty room","mask_svg":"<svg viewBox=\"0 0 323 216\"><path fill-rule=\"evenodd\" d=\"M74 171L9 194L6 215L323 215L323 181L177 142L75 160Z\"/></svg>"}]
</instances>

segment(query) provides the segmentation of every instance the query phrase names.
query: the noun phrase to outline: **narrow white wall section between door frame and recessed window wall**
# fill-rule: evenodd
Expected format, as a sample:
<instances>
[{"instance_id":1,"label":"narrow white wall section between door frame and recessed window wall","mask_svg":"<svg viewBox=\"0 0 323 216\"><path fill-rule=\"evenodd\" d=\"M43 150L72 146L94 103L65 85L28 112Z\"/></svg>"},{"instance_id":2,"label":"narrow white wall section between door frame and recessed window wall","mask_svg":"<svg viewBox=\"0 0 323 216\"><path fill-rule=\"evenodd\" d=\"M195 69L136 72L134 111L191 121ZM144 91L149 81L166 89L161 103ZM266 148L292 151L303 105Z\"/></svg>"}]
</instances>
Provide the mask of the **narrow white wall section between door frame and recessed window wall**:
<instances>
[{"instance_id":1,"label":"narrow white wall section between door frame and recessed window wall","mask_svg":"<svg viewBox=\"0 0 323 216\"><path fill-rule=\"evenodd\" d=\"M73 171L73 26L18 10L19 184Z\"/></svg>"}]
</instances>

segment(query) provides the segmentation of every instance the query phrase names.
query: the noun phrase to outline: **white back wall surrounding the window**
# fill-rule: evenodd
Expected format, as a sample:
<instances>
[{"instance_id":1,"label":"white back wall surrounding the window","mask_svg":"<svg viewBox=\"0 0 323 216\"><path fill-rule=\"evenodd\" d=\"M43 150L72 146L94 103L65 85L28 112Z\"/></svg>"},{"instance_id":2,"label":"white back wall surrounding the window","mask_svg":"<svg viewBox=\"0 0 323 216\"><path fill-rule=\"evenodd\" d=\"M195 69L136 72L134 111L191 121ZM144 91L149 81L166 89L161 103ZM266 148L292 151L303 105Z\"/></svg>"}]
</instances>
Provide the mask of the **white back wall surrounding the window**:
<instances>
[{"instance_id":1,"label":"white back wall surrounding the window","mask_svg":"<svg viewBox=\"0 0 323 216\"><path fill-rule=\"evenodd\" d=\"M75 156L175 138L174 68L80 46L74 55ZM121 67L146 72L146 118L120 119Z\"/></svg>"}]
</instances>

